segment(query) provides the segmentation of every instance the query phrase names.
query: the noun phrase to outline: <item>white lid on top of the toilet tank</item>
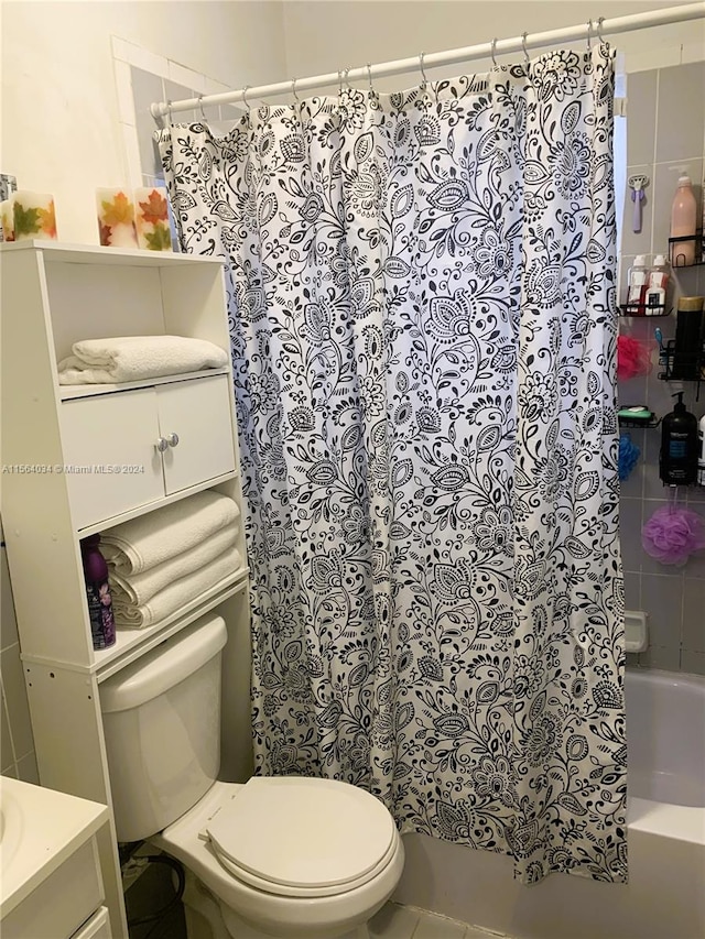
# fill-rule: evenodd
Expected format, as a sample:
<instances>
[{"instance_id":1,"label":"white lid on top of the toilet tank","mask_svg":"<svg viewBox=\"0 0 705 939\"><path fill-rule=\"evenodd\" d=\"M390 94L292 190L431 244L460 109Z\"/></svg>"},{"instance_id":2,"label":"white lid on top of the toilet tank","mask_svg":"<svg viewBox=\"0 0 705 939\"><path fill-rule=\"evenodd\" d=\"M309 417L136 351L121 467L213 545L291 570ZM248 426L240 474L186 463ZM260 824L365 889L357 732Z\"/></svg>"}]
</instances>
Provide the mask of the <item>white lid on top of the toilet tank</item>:
<instances>
[{"instance_id":1,"label":"white lid on top of the toilet tank","mask_svg":"<svg viewBox=\"0 0 705 939\"><path fill-rule=\"evenodd\" d=\"M227 641L223 616L204 616L100 685L104 713L139 708L214 658Z\"/></svg>"}]
</instances>

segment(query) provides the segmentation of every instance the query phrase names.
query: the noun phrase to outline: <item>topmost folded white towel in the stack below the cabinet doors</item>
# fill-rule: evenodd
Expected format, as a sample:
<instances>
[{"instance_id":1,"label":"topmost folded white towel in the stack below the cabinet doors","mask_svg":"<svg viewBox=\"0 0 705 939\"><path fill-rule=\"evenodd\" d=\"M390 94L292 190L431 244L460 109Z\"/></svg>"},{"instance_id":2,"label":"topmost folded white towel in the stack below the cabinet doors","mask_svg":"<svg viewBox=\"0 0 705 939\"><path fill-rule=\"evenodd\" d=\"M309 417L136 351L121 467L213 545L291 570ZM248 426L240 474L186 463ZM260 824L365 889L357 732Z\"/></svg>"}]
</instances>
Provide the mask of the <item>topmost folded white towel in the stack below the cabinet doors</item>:
<instances>
[{"instance_id":1,"label":"topmost folded white towel in the stack below the cabinet doors","mask_svg":"<svg viewBox=\"0 0 705 939\"><path fill-rule=\"evenodd\" d=\"M240 515L227 495L208 490L122 522L100 535L100 552L117 574L141 574L189 552Z\"/></svg>"}]
</instances>

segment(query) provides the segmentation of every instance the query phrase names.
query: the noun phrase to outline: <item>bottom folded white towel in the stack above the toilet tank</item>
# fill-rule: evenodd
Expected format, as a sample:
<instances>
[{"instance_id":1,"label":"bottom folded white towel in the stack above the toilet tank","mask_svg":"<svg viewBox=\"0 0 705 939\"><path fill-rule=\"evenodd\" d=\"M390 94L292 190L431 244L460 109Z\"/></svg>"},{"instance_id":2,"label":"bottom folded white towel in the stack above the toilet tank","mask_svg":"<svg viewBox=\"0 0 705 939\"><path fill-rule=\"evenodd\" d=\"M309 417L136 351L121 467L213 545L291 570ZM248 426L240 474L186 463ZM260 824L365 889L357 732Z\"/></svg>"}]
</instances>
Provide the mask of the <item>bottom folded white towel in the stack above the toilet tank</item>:
<instances>
[{"instance_id":1,"label":"bottom folded white towel in the stack above the toilet tank","mask_svg":"<svg viewBox=\"0 0 705 939\"><path fill-rule=\"evenodd\" d=\"M219 558L175 580L139 607L130 602L128 594L116 585L110 591L116 625L141 630L159 623L178 612L186 603L197 600L208 588L215 587L241 566L239 553L235 548L228 548Z\"/></svg>"}]
</instances>

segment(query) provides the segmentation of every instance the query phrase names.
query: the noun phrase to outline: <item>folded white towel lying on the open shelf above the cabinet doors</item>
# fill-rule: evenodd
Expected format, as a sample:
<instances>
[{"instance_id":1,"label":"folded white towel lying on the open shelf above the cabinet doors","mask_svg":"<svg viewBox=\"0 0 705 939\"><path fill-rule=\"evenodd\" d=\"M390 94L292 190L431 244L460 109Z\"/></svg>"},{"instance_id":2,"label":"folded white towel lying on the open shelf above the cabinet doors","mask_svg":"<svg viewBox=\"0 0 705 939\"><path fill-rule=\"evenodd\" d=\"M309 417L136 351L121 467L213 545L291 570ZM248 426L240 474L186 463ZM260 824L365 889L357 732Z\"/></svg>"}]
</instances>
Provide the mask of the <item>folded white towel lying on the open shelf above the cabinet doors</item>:
<instances>
[{"instance_id":1,"label":"folded white towel lying on the open shelf above the cabinet doors","mask_svg":"<svg viewBox=\"0 0 705 939\"><path fill-rule=\"evenodd\" d=\"M58 363L59 384L105 384L178 375L227 364L228 354L205 339L117 336L83 339Z\"/></svg>"}]
</instances>

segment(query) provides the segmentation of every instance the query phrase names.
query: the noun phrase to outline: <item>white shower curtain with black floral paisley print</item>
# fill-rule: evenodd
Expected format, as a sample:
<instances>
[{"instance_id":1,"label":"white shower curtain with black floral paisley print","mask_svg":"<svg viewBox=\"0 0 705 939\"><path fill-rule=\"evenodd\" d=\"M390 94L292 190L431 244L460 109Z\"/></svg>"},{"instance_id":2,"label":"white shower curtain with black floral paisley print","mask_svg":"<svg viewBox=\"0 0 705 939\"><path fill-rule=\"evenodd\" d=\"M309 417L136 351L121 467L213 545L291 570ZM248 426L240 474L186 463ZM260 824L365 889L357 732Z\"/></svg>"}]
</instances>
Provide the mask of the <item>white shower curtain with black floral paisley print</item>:
<instances>
[{"instance_id":1,"label":"white shower curtain with black floral paisley print","mask_svg":"<svg viewBox=\"0 0 705 939\"><path fill-rule=\"evenodd\" d=\"M600 45L158 134L226 261L258 772L524 883L626 880L612 97Z\"/></svg>"}]
</instances>

